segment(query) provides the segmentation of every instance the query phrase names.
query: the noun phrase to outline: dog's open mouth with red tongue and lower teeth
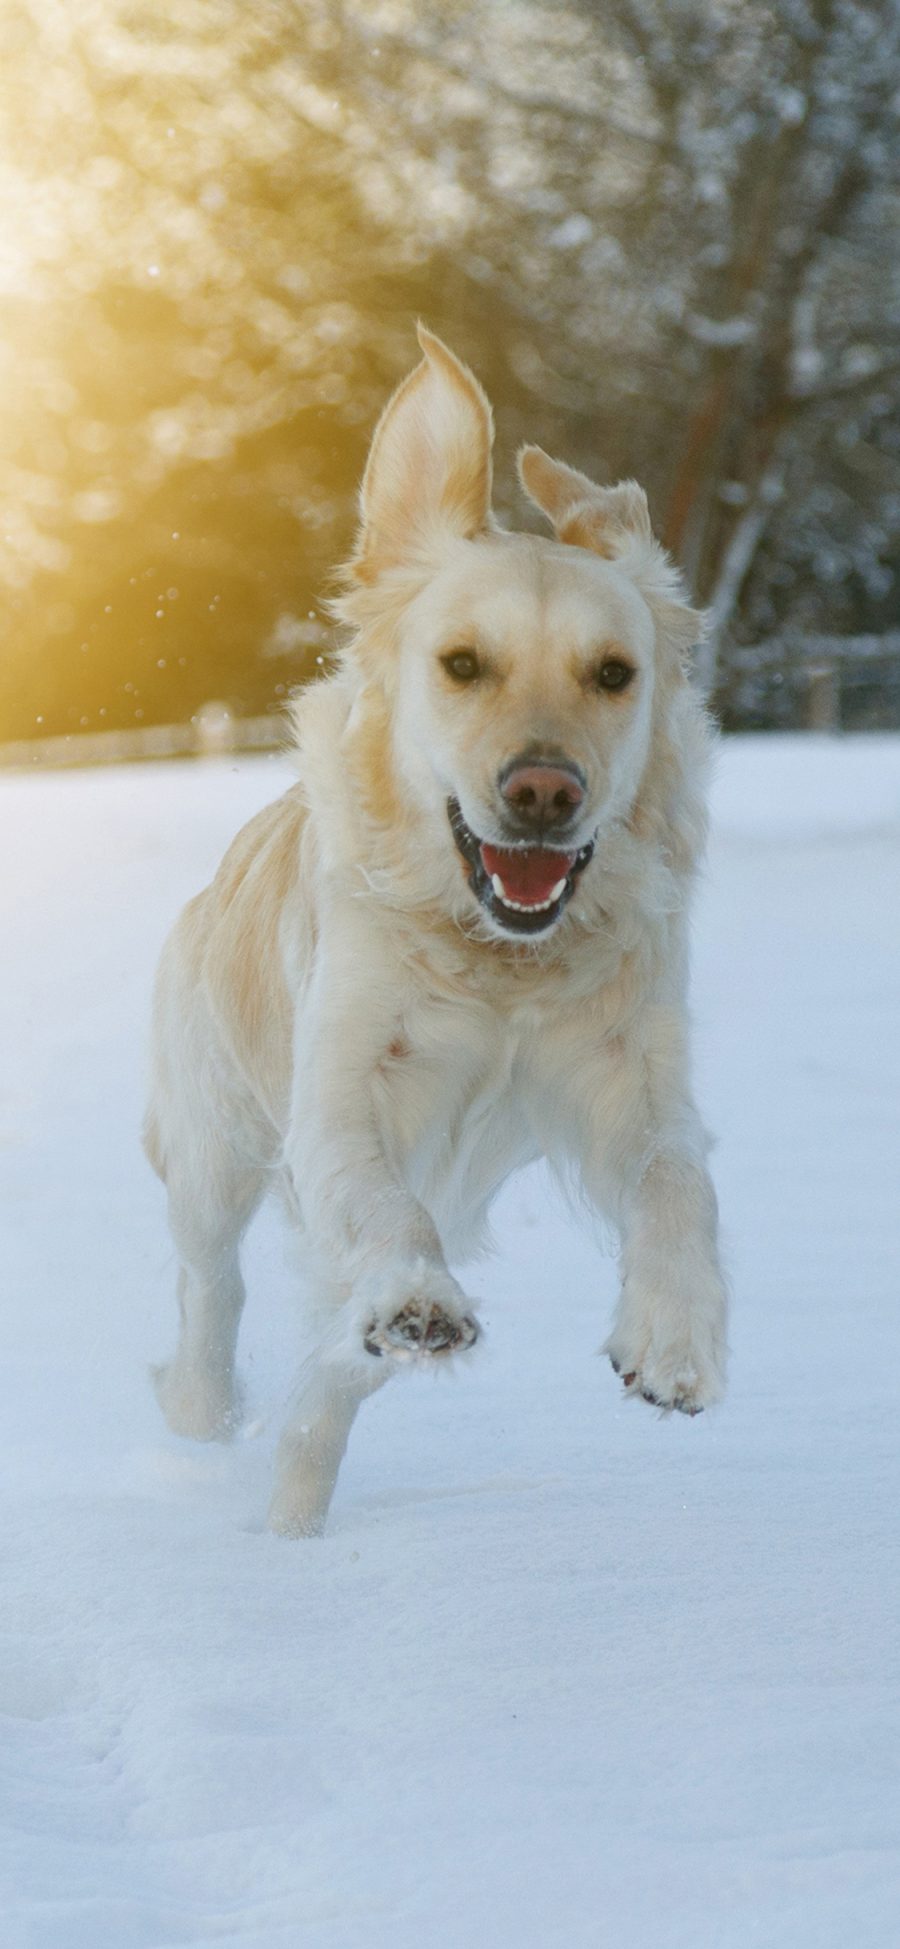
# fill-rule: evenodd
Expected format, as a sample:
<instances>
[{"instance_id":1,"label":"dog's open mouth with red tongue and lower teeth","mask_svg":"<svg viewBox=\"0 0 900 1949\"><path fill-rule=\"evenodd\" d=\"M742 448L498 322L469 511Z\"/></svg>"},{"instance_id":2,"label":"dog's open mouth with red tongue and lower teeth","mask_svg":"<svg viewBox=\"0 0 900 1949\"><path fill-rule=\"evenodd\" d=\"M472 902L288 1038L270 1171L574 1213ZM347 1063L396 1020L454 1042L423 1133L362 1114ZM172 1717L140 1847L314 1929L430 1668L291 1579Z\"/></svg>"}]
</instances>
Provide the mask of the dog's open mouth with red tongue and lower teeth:
<instances>
[{"instance_id":1,"label":"dog's open mouth with red tongue and lower teeth","mask_svg":"<svg viewBox=\"0 0 900 1949\"><path fill-rule=\"evenodd\" d=\"M446 803L450 830L469 867L469 887L505 934L545 934L571 900L594 840L577 852L555 846L493 846L479 840L460 811Z\"/></svg>"}]
</instances>

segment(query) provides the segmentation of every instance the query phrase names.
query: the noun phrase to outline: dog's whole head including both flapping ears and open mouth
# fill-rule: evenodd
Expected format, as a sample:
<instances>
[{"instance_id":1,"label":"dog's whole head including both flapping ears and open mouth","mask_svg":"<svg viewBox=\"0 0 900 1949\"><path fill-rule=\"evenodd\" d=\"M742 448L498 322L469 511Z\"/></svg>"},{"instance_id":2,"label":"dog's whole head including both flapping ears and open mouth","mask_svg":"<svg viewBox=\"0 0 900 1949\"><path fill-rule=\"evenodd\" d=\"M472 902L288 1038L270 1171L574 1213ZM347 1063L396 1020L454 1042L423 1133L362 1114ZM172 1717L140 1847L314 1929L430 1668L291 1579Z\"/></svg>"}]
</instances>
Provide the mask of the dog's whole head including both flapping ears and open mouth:
<instances>
[{"instance_id":1,"label":"dog's whole head including both flapping ears and open mouth","mask_svg":"<svg viewBox=\"0 0 900 1949\"><path fill-rule=\"evenodd\" d=\"M674 819L639 801L655 756L672 770L699 618L633 481L596 487L526 446L520 479L555 540L499 530L491 407L440 339L419 339L372 440L341 604L358 628L355 723L382 725L384 817L399 799L446 846L464 912L477 902L481 932L538 939L604 832Z\"/></svg>"}]
</instances>

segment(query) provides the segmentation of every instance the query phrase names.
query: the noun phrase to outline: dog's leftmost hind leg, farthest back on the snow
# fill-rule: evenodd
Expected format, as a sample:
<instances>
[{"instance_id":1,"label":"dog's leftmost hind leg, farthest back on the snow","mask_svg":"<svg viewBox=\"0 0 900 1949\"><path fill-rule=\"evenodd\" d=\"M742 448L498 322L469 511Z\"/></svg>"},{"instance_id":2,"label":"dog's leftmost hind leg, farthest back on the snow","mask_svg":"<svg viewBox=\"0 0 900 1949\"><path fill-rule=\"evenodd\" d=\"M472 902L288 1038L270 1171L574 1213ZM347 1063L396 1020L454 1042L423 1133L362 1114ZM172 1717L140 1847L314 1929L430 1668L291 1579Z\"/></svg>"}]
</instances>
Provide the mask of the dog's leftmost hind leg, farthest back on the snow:
<instances>
[{"instance_id":1,"label":"dog's leftmost hind leg, farthest back on the snow","mask_svg":"<svg viewBox=\"0 0 900 1949\"><path fill-rule=\"evenodd\" d=\"M240 1238L259 1204L265 1173L208 1134L206 1156L169 1160L169 1226L181 1259L179 1341L154 1368L173 1434L228 1440L240 1421L234 1355L244 1310Z\"/></svg>"}]
</instances>

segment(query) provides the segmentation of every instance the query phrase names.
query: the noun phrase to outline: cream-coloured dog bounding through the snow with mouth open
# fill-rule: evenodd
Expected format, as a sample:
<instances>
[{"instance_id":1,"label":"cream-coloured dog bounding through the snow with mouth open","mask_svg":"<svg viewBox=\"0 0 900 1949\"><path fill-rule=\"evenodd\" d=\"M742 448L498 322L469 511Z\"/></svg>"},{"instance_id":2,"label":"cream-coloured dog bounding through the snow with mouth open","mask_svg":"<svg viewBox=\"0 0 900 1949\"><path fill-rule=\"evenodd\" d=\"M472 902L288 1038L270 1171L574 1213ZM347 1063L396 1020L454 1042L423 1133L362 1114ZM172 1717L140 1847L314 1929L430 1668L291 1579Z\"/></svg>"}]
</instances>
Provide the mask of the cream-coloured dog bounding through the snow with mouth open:
<instances>
[{"instance_id":1,"label":"cream-coloured dog bounding through the snow with mouth open","mask_svg":"<svg viewBox=\"0 0 900 1949\"><path fill-rule=\"evenodd\" d=\"M627 1395L721 1399L727 1292L690 1091L688 902L711 735L701 633L633 481L518 456L553 538L491 513L493 421L429 331L360 489L337 670L294 702L300 782L189 902L154 998L144 1142L168 1189L169 1429L238 1425L240 1238L281 1183L316 1353L269 1510L321 1532L360 1401L448 1362L448 1269L534 1158L621 1238Z\"/></svg>"}]
</instances>

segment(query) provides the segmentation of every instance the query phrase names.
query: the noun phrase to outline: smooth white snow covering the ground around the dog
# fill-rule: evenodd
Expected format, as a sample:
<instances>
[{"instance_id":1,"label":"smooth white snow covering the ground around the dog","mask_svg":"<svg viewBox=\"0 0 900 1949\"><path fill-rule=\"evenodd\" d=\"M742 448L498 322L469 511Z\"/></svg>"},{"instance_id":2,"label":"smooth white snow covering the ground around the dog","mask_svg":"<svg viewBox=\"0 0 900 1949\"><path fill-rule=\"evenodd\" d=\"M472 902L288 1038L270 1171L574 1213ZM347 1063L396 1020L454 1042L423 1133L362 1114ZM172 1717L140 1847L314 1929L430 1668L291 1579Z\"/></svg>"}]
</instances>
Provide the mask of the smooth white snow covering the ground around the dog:
<instances>
[{"instance_id":1,"label":"smooth white snow covering the ground around the dog","mask_svg":"<svg viewBox=\"0 0 900 1949\"><path fill-rule=\"evenodd\" d=\"M727 746L697 1082L727 1405L594 1357L614 1265L534 1171L458 1382L362 1411L331 1528L263 1429L168 1434L152 963L281 760L0 778L4 1949L886 1949L900 1939L900 741Z\"/></svg>"}]
</instances>

